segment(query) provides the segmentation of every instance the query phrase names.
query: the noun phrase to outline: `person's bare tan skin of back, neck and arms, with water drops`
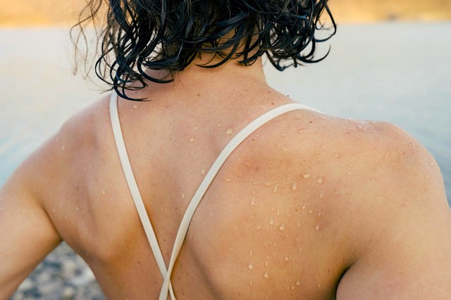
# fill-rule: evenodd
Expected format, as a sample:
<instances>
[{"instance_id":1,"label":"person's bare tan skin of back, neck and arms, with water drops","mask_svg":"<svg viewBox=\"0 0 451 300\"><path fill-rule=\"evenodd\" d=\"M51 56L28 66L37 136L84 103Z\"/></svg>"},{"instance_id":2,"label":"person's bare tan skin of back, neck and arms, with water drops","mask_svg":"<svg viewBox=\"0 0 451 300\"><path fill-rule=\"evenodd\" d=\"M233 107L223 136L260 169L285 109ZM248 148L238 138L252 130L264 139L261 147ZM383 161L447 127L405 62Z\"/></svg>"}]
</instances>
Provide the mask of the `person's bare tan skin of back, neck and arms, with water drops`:
<instances>
[{"instance_id":1,"label":"person's bare tan skin of back, neck and arms, with water drops","mask_svg":"<svg viewBox=\"0 0 451 300\"><path fill-rule=\"evenodd\" d=\"M133 96L152 99L120 99L119 112L168 263L202 170L242 127L292 100L268 87L260 62L234 61L192 66ZM108 100L68 120L1 189L0 299L62 240L107 298L158 297L162 277L121 170ZM443 180L423 146L388 123L293 111L223 165L172 283L179 299L449 299L450 249Z\"/></svg>"}]
</instances>

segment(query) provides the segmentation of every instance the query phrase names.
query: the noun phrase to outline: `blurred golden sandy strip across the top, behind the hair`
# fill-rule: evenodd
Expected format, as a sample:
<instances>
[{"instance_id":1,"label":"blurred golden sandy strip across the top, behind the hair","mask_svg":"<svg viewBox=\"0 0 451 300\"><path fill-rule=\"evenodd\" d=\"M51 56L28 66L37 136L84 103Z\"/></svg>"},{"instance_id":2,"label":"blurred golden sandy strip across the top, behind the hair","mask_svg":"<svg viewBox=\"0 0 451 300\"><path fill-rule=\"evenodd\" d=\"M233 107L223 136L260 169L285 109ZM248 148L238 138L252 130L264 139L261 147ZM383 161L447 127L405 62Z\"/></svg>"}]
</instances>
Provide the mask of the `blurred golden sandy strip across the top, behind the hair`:
<instances>
[{"instance_id":1,"label":"blurred golden sandy strip across the top, behind the hair","mask_svg":"<svg viewBox=\"0 0 451 300\"><path fill-rule=\"evenodd\" d=\"M0 0L0 26L73 24L85 1ZM340 23L450 20L451 0L330 0Z\"/></svg>"}]
</instances>

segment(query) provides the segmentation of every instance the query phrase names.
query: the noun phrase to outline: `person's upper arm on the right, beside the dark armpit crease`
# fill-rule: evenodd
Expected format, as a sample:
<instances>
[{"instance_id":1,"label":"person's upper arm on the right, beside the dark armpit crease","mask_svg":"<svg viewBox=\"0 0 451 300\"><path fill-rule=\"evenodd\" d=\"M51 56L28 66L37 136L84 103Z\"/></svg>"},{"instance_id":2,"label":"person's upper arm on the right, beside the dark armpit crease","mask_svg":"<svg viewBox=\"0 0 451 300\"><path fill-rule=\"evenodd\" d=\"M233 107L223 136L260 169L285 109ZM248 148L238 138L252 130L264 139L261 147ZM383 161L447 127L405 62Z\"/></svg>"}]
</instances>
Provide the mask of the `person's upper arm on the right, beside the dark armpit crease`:
<instances>
[{"instance_id":1,"label":"person's upper arm on the right, beside the dark armpit crease","mask_svg":"<svg viewBox=\"0 0 451 300\"><path fill-rule=\"evenodd\" d=\"M440 170L402 132L390 142L362 181L360 249L337 298L449 299L451 213Z\"/></svg>"}]
</instances>

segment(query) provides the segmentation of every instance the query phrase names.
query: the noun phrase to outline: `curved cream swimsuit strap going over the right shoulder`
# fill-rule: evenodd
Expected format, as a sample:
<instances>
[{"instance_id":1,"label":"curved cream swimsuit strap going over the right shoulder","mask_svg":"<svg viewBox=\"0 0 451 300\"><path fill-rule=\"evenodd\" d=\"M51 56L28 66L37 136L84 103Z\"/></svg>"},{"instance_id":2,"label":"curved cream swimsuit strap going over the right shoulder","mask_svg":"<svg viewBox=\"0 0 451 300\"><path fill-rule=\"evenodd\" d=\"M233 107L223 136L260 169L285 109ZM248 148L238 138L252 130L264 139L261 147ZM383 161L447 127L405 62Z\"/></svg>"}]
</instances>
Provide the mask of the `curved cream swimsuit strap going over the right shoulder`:
<instances>
[{"instance_id":1,"label":"curved cream swimsuit strap going over the right shoulder","mask_svg":"<svg viewBox=\"0 0 451 300\"><path fill-rule=\"evenodd\" d=\"M192 200L188 205L187 210L185 211L185 215L183 215L182 222L180 223L180 227L177 232L177 237L175 237L175 242L171 254L171 261L169 262L168 272L166 273L163 286L161 287L159 300L168 299L168 290L171 289L171 274L174 268L174 263L180 252L183 241L185 240L188 227L190 226L190 222L192 220L192 216L194 215L194 212L196 211L196 208L202 200L202 197L204 196L206 190L211 185L211 182L214 180L214 177L216 176L228 156L230 156L233 150L235 150L238 145L240 145L247 137L249 137L252 132L259 129L259 127L261 127L262 125L268 123L270 120L273 120L273 118L276 118L283 113L288 113L289 111L295 111L299 109L316 111L314 108L305 106L303 104L285 104L273 108L271 111L268 111L259 116L259 118L253 120L251 123L249 123L249 125L238 132L237 135L235 135L235 137L233 137L233 139L228 142L223 151L221 151L221 154L219 154L218 158L216 158L216 161L213 163L213 165L211 165L209 172L206 173L204 180L199 185L197 192L192 197Z\"/></svg>"}]
</instances>

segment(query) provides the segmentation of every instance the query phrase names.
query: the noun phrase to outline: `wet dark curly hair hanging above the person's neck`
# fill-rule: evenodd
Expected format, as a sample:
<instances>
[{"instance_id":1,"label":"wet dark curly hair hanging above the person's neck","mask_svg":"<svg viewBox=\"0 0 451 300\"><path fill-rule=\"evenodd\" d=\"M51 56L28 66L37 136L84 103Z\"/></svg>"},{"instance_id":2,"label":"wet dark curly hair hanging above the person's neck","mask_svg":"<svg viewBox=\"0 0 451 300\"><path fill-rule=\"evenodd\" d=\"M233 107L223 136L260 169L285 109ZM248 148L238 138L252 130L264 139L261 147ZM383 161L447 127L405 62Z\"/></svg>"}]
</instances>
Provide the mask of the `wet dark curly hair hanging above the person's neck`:
<instances>
[{"instance_id":1,"label":"wet dark curly hair hanging above the person's neck","mask_svg":"<svg viewBox=\"0 0 451 300\"><path fill-rule=\"evenodd\" d=\"M251 65L266 54L278 69L321 61L314 58L316 43L335 34L336 25L327 0L87 0L75 42L86 37L85 25L105 15L97 75L126 99L125 89L142 89L145 80L171 82L194 58L214 54L215 68L230 59ZM318 39L326 11L333 31ZM86 15L87 13L87 15ZM168 70L159 79L146 73ZM130 86L131 82L140 85Z\"/></svg>"}]
</instances>

